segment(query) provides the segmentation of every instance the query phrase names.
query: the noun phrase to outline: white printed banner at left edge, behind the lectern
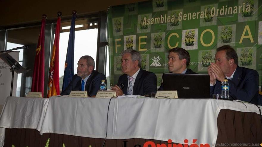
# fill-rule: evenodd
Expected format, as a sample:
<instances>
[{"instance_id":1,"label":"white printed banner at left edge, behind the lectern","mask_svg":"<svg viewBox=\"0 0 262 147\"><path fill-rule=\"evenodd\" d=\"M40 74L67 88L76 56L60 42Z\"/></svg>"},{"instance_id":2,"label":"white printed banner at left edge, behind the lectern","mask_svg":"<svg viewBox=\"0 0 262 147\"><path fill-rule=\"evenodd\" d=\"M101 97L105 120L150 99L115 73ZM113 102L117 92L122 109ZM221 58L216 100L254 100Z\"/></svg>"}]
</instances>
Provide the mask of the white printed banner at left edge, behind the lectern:
<instances>
[{"instance_id":1,"label":"white printed banner at left edge, behind the lectern","mask_svg":"<svg viewBox=\"0 0 262 147\"><path fill-rule=\"evenodd\" d=\"M9 53L16 61L19 60L19 51L13 51ZM16 95L16 85L17 85L17 73L14 74L14 83L13 83L13 96ZM4 102L8 96L10 96L11 90L11 80L12 72L10 72L10 67L2 59L0 59L0 112L4 106Z\"/></svg>"}]
</instances>

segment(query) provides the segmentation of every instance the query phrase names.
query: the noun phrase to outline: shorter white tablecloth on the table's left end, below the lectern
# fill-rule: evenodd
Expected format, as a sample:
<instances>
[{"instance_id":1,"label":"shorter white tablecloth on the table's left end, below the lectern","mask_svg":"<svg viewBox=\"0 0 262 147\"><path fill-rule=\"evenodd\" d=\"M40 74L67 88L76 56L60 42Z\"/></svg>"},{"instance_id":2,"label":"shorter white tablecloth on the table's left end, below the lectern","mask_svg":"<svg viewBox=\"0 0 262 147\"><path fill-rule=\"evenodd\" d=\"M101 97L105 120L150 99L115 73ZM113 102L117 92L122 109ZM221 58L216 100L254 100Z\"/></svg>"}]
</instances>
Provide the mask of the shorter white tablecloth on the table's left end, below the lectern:
<instances>
[{"instance_id":1,"label":"shorter white tablecloth on the table's left end, below the lectern","mask_svg":"<svg viewBox=\"0 0 262 147\"><path fill-rule=\"evenodd\" d=\"M0 145L4 145L5 128L36 129L48 99L7 97L0 117Z\"/></svg>"}]
</instances>

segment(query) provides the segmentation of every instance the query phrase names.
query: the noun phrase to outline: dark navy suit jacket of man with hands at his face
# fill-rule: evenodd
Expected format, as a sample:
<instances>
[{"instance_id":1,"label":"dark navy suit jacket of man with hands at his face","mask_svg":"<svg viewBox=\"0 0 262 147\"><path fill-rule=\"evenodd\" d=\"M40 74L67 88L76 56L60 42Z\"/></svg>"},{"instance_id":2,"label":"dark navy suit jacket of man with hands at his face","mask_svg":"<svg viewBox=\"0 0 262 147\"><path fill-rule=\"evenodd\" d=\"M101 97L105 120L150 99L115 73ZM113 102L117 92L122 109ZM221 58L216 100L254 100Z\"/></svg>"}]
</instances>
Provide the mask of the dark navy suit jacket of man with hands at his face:
<instances>
[{"instance_id":1,"label":"dark navy suit jacket of man with hands at his face","mask_svg":"<svg viewBox=\"0 0 262 147\"><path fill-rule=\"evenodd\" d=\"M233 79L228 80L230 99L258 104L258 72L245 67L237 67ZM216 80L214 86L210 86L210 97L212 94L221 94L221 82Z\"/></svg>"}]
</instances>

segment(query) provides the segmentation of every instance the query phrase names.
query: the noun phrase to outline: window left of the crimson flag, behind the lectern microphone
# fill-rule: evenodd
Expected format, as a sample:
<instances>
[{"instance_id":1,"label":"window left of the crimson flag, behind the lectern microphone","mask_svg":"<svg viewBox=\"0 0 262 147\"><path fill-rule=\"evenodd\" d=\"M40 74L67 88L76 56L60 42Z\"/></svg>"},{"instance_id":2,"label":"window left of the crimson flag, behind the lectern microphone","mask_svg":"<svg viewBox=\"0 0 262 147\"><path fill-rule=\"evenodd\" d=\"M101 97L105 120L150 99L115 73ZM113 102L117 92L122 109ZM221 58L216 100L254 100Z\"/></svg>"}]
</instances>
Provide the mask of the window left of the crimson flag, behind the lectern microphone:
<instances>
[{"instance_id":1,"label":"window left of the crimson flag, behind the lectern microphone","mask_svg":"<svg viewBox=\"0 0 262 147\"><path fill-rule=\"evenodd\" d=\"M47 26L48 24L46 24L46 28L48 29ZM24 45L29 46L27 49L16 50L20 51L19 64L28 70L28 72L18 74L16 96L24 96L25 93L31 91L35 50L38 42L39 32L40 25L7 29L7 50ZM48 49L49 47L46 45L45 50ZM13 89L15 89L15 87Z\"/></svg>"}]
</instances>

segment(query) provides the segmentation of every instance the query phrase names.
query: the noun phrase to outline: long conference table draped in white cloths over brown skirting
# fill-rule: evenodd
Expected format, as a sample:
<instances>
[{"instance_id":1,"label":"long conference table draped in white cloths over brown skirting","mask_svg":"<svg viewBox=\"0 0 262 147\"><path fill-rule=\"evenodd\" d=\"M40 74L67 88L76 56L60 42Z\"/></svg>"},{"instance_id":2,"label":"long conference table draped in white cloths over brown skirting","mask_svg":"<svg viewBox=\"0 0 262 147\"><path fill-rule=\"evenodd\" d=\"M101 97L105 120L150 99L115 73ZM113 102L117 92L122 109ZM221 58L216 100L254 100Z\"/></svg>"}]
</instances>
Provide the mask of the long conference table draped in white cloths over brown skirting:
<instances>
[{"instance_id":1,"label":"long conference table draped in white cloths over brown skirting","mask_svg":"<svg viewBox=\"0 0 262 147\"><path fill-rule=\"evenodd\" d=\"M0 118L0 142L3 145L5 128L31 128L38 130L40 134L56 133L105 138L109 100L74 97L49 99L8 97ZM259 107L262 110L262 107ZM240 114L239 119L246 120L234 122L233 117L236 113L230 120L226 115L231 111L241 112L237 113ZM220 120L219 113L222 115ZM250 141L262 143L262 122L259 114L256 105L238 101L113 98L108 111L107 138L143 138L162 141L171 139L172 142L180 144L185 144L185 139L188 140L188 144L192 144L193 140L197 139L195 143L208 143L211 146L218 140L219 142L231 140L227 135L230 132L234 135L234 131L241 133L241 130L244 130L243 126L241 129L241 124L245 124L248 126L245 129L248 129L255 138ZM229 127L224 124L224 118L229 119L226 120ZM236 127L238 131L234 130ZM249 135L252 137L251 134L242 134L243 137Z\"/></svg>"}]
</instances>

